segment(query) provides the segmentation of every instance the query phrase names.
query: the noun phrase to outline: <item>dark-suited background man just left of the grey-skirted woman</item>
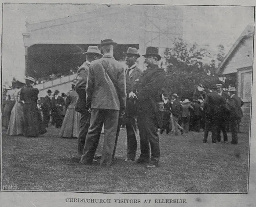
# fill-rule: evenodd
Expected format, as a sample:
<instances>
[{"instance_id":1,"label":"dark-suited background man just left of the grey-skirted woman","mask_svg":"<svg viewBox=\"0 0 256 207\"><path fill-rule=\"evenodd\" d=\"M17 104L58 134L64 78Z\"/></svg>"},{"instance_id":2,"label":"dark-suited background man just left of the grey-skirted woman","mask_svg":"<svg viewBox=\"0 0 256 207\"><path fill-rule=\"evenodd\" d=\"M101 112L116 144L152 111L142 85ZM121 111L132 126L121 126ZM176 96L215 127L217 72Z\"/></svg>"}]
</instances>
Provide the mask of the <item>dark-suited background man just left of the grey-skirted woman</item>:
<instances>
[{"instance_id":1,"label":"dark-suited background man just left of the grey-skirted woman","mask_svg":"<svg viewBox=\"0 0 256 207\"><path fill-rule=\"evenodd\" d=\"M52 97L52 118L53 124L55 124L56 128L60 128L62 125L62 111L65 110L65 101L59 96L59 90L56 89L54 92L54 96Z\"/></svg>"}]
</instances>

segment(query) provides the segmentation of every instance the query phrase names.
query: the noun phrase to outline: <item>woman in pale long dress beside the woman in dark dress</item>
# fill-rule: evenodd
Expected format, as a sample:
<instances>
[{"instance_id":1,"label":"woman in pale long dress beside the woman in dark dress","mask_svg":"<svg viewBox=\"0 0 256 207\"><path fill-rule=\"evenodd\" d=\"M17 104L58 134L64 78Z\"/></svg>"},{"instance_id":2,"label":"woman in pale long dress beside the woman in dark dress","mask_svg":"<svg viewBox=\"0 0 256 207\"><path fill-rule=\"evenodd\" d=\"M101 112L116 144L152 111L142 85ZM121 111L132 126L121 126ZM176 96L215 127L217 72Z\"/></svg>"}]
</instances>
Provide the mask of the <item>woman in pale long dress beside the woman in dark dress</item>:
<instances>
[{"instance_id":1,"label":"woman in pale long dress beside the woman in dark dress","mask_svg":"<svg viewBox=\"0 0 256 207\"><path fill-rule=\"evenodd\" d=\"M9 135L23 135L24 134L24 114L23 103L20 100L21 87L25 85L25 80L17 81L17 89L14 92L15 105L12 108L11 117L7 134Z\"/></svg>"}]
</instances>

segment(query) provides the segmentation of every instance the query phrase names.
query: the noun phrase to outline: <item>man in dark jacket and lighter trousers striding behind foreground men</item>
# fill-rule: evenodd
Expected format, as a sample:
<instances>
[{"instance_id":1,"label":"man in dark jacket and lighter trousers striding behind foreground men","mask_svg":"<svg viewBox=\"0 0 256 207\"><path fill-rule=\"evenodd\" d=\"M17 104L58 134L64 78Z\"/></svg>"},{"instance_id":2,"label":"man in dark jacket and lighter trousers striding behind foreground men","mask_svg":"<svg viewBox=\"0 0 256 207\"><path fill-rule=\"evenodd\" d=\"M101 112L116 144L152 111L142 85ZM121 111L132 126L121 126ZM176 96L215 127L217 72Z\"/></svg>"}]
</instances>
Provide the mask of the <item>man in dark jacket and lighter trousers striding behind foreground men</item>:
<instances>
[{"instance_id":1,"label":"man in dark jacket and lighter trousers striding behind foreground men","mask_svg":"<svg viewBox=\"0 0 256 207\"><path fill-rule=\"evenodd\" d=\"M173 124L174 124L174 135L178 134L178 121L181 118L181 112L182 112L182 106L180 101L178 100L177 94L172 94L172 116L173 116ZM183 130L181 130L181 133L183 133Z\"/></svg>"}]
</instances>

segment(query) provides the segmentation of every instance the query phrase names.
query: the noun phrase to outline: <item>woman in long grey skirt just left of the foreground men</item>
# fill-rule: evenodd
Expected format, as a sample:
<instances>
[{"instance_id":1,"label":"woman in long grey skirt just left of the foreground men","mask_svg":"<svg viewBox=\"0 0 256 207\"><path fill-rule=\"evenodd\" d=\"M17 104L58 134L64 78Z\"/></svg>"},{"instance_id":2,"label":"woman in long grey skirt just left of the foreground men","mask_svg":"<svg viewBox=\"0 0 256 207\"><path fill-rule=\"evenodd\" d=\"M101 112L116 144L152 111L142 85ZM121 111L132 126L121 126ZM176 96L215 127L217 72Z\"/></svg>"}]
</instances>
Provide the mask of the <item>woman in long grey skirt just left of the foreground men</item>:
<instances>
[{"instance_id":1,"label":"woman in long grey skirt just left of the foreground men","mask_svg":"<svg viewBox=\"0 0 256 207\"><path fill-rule=\"evenodd\" d=\"M78 94L75 91L75 83L72 83L72 90L67 93L67 111L61 126L60 136L65 138L78 137L81 114L75 111Z\"/></svg>"}]
</instances>

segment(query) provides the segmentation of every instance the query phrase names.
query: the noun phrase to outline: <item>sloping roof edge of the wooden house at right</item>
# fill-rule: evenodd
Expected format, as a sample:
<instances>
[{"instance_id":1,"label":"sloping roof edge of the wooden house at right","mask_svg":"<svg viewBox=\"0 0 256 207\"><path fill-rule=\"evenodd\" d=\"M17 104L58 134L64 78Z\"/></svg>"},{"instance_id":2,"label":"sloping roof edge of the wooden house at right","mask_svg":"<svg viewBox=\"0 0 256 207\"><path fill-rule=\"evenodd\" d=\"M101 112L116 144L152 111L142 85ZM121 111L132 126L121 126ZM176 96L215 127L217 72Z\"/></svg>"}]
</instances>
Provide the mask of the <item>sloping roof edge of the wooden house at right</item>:
<instances>
[{"instance_id":1,"label":"sloping roof edge of the wooden house at right","mask_svg":"<svg viewBox=\"0 0 256 207\"><path fill-rule=\"evenodd\" d=\"M225 56L224 60L222 61L222 63L218 67L217 73L223 73L225 65L226 65L227 61L232 57L232 54L234 53L235 49L239 46L239 44L241 43L241 41L244 38L249 38L249 37L253 36L253 30L254 30L254 27L252 25L247 25L246 26L245 30L242 32L242 34L236 40L235 44L232 46L230 51L228 51L228 53Z\"/></svg>"}]
</instances>

